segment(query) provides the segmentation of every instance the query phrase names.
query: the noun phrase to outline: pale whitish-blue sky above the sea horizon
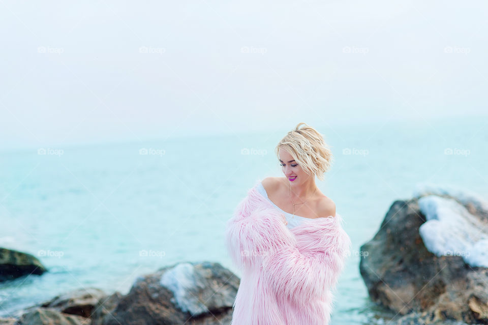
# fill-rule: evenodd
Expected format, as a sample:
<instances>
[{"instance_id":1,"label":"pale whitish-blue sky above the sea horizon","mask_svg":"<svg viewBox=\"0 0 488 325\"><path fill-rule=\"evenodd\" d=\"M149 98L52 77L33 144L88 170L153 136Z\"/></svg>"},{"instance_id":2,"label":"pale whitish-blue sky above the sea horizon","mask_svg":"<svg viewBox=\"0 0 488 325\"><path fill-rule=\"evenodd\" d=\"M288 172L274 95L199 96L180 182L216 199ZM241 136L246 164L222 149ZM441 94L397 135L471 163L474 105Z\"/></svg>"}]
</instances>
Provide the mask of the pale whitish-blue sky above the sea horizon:
<instances>
[{"instance_id":1,"label":"pale whitish-blue sky above the sea horizon","mask_svg":"<svg viewBox=\"0 0 488 325\"><path fill-rule=\"evenodd\" d=\"M0 149L484 116L485 1L0 0Z\"/></svg>"}]
</instances>

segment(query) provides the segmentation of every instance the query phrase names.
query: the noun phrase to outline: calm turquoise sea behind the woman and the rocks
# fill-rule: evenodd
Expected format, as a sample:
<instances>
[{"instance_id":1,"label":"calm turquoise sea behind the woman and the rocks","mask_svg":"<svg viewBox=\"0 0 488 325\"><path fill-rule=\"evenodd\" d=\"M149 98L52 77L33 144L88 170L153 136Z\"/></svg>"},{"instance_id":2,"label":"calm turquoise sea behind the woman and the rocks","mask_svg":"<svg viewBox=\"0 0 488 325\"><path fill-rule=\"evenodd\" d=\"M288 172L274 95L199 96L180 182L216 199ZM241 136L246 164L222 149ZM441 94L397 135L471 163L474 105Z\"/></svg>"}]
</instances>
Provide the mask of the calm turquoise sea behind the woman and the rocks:
<instances>
[{"instance_id":1,"label":"calm turquoise sea behind the woman and the rocks","mask_svg":"<svg viewBox=\"0 0 488 325\"><path fill-rule=\"evenodd\" d=\"M396 199L420 183L488 197L486 118L314 125L334 154L317 181L353 245L332 324L387 323L359 275L359 246ZM0 316L71 289L126 293L143 274L178 261L218 261L225 222L259 179L281 176L282 132L36 147L0 153L0 247L49 269L0 283Z\"/></svg>"}]
</instances>

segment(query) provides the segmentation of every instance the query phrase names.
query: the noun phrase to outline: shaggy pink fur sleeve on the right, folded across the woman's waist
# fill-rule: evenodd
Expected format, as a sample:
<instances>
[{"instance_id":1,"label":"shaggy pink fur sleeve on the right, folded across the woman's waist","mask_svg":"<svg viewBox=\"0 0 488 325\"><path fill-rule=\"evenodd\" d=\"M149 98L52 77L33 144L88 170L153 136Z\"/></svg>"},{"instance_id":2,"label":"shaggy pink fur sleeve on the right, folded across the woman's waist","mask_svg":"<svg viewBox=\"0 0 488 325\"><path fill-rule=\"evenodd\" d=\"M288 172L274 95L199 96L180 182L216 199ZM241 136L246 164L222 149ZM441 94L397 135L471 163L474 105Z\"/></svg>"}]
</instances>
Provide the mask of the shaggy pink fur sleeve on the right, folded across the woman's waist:
<instances>
[{"instance_id":1,"label":"shaggy pink fur sleeve on the right, folded across the woman's waist","mask_svg":"<svg viewBox=\"0 0 488 325\"><path fill-rule=\"evenodd\" d=\"M335 287L350 252L350 238L339 227L319 242L321 251L300 252L298 247L288 246L263 257L264 277L276 292L306 304Z\"/></svg>"}]
</instances>

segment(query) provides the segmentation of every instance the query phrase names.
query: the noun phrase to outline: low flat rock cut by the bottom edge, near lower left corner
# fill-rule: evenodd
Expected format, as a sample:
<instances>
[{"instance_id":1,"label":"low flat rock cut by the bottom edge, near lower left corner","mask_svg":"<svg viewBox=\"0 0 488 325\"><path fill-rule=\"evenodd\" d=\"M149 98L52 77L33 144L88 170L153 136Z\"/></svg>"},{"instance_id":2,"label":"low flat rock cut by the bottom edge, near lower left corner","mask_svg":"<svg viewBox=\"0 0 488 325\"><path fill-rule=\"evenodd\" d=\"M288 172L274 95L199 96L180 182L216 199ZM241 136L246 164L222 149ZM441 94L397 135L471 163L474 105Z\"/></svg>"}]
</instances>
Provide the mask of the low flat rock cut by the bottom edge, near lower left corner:
<instances>
[{"instance_id":1,"label":"low flat rock cut by the bottom edge, near lower left corner","mask_svg":"<svg viewBox=\"0 0 488 325\"><path fill-rule=\"evenodd\" d=\"M28 312L19 320L19 325L89 325L90 319L64 314L54 309L38 308Z\"/></svg>"}]
</instances>

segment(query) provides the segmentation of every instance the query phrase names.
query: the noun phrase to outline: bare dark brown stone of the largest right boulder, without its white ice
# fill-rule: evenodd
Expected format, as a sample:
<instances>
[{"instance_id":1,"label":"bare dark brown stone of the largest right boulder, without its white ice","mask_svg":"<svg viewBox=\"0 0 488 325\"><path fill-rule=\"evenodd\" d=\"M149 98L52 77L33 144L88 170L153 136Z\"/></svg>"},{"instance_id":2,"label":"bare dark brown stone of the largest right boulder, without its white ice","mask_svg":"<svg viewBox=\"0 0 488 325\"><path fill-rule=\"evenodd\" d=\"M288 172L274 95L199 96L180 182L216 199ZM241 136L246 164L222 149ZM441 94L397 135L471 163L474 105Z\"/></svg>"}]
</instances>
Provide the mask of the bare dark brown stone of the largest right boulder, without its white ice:
<instances>
[{"instance_id":1,"label":"bare dark brown stone of the largest right boulder, without its white ice","mask_svg":"<svg viewBox=\"0 0 488 325\"><path fill-rule=\"evenodd\" d=\"M399 320L402 325L488 323L488 269L472 267L463 256L432 253L419 233L428 220L419 199L433 193L419 191L418 197L393 202L374 238L361 246L359 270L370 298L406 315ZM477 222L485 222L488 205L482 201L459 191L437 193L464 206Z\"/></svg>"}]
</instances>

